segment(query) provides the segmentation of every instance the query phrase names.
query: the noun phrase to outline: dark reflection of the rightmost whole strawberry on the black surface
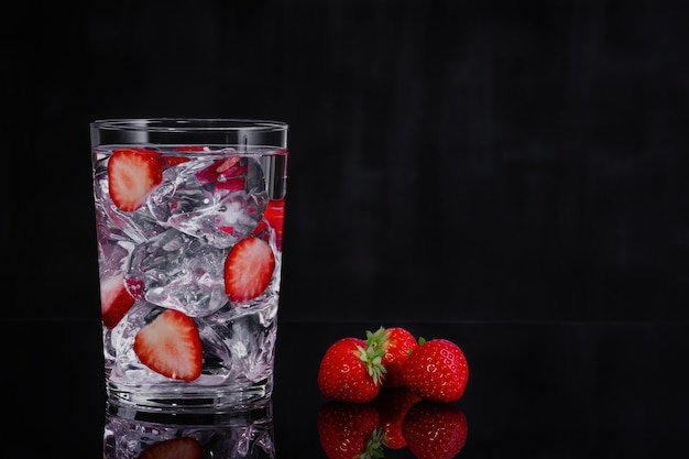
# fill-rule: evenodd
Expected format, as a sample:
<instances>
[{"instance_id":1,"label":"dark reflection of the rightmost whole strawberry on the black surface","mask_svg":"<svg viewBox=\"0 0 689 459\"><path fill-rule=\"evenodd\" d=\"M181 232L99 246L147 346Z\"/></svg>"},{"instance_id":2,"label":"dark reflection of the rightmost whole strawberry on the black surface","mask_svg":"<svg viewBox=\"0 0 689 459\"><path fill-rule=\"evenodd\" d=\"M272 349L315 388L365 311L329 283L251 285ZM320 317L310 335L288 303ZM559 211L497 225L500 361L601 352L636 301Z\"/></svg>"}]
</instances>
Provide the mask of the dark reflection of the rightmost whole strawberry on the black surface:
<instances>
[{"instance_id":1,"label":"dark reflection of the rightmost whole strawberry on the black surface","mask_svg":"<svg viewBox=\"0 0 689 459\"><path fill-rule=\"evenodd\" d=\"M402 422L409 451L419 459L449 459L467 442L467 417L456 405L422 401Z\"/></svg>"}]
</instances>

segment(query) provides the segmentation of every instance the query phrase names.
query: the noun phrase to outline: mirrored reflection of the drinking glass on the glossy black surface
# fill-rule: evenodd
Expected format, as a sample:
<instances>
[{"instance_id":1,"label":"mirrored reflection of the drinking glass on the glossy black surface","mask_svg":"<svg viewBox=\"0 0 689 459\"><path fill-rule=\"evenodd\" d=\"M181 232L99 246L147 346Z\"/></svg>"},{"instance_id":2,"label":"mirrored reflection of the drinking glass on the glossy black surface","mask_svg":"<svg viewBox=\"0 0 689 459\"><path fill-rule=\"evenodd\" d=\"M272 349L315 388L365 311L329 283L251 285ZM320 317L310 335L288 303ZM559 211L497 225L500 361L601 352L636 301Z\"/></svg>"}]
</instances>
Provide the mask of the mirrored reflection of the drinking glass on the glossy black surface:
<instances>
[{"instance_id":1,"label":"mirrored reflection of the drinking glass on the glossy black surface","mask_svg":"<svg viewBox=\"0 0 689 459\"><path fill-rule=\"evenodd\" d=\"M103 459L274 459L272 404L204 424L198 417L106 415Z\"/></svg>"}]
</instances>

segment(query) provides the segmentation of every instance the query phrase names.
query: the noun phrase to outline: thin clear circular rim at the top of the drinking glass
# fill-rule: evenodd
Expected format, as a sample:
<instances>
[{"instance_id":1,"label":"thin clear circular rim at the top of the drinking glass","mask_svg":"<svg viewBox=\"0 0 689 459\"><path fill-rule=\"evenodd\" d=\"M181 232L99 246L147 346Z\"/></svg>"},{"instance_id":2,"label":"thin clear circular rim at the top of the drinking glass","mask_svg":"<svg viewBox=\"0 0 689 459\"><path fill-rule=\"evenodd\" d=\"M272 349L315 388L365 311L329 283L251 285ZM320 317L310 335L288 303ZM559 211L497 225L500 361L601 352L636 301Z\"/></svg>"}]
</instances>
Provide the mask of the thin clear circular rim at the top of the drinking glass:
<instances>
[{"instance_id":1,"label":"thin clear circular rim at the top of the drinking glass","mask_svg":"<svg viewBox=\"0 0 689 459\"><path fill-rule=\"evenodd\" d=\"M101 118L90 122L99 130L145 132L276 132L288 123L253 118Z\"/></svg>"}]
</instances>

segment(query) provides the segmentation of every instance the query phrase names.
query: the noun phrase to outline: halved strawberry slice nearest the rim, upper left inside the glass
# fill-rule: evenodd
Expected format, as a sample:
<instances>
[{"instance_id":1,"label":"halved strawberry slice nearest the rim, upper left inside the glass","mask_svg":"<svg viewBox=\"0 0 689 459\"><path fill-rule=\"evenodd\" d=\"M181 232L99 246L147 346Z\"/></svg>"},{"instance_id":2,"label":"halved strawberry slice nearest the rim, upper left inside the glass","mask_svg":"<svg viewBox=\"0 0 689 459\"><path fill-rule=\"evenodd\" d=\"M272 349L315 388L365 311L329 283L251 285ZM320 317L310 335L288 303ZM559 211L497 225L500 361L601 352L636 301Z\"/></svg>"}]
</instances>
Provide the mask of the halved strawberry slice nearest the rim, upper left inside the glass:
<instances>
[{"instance_id":1,"label":"halved strawberry slice nearest the rim, upper left inside the glass","mask_svg":"<svg viewBox=\"0 0 689 459\"><path fill-rule=\"evenodd\" d=\"M108 187L116 206L124 211L141 207L143 198L163 181L160 153L119 149L108 162Z\"/></svg>"}]
</instances>

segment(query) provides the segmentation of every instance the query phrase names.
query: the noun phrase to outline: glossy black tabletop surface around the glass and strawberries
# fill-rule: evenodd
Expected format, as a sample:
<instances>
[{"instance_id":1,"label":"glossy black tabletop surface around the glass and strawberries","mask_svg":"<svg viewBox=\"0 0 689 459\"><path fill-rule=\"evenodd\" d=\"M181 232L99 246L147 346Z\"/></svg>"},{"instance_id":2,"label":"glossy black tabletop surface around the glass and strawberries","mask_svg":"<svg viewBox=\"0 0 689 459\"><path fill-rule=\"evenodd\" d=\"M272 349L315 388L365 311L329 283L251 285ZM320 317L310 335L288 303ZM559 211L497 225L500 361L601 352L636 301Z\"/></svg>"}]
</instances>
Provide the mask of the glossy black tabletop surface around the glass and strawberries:
<instances>
[{"instance_id":1,"label":"glossy black tabletop surface around the glass and strawberries","mask_svg":"<svg viewBox=\"0 0 689 459\"><path fill-rule=\"evenodd\" d=\"M463 349L468 422L458 458L682 457L689 447L686 323L282 321L273 396L277 458L326 457L316 373L336 339L402 325ZM96 321L0 321L3 451L100 458L105 391ZM414 458L408 449L387 458Z\"/></svg>"}]
</instances>

